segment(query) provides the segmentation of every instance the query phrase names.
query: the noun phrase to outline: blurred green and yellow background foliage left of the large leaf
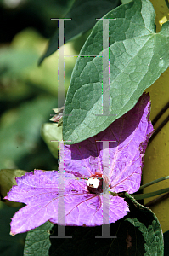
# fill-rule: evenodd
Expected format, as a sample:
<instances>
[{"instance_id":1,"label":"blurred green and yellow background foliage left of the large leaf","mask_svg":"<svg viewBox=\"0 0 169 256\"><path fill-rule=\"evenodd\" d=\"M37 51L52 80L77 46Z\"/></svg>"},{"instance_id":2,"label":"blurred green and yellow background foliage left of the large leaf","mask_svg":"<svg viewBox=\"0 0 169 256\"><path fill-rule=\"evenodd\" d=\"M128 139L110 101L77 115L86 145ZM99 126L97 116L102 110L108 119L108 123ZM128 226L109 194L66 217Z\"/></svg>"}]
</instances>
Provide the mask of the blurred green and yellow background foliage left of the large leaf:
<instances>
[{"instance_id":1,"label":"blurred green and yellow background foliage left of the large leaf","mask_svg":"<svg viewBox=\"0 0 169 256\"><path fill-rule=\"evenodd\" d=\"M0 169L57 170L41 126L58 108L58 52L39 58L73 0L0 0ZM89 32L65 44L78 55ZM65 94L76 57L65 57Z\"/></svg>"}]
</instances>

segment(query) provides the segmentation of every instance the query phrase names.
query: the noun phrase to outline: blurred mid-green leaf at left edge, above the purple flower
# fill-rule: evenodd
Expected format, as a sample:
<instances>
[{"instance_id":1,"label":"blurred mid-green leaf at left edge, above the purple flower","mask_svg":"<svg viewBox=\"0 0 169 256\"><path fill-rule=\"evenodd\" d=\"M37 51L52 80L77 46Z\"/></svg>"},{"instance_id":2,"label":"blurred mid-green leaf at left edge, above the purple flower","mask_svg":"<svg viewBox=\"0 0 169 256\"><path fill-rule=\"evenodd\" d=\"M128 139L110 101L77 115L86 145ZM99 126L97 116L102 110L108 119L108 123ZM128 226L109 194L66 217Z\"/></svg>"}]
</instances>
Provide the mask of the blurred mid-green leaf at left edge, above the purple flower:
<instances>
[{"instance_id":1,"label":"blurred mid-green leaf at left edge, above the purple flower","mask_svg":"<svg viewBox=\"0 0 169 256\"><path fill-rule=\"evenodd\" d=\"M19 109L15 109L8 115L6 114L0 131L1 168L6 169L8 166L14 168L18 161L21 158L24 159L27 154L31 154L31 164L33 164L34 153L40 140L41 125L47 118L49 119L49 114L56 103L57 100L54 97L40 96L31 102L21 104ZM42 149L40 150L42 154ZM33 169L38 167L40 163L38 166L34 165ZM32 171L32 169L29 170L26 160L23 168L26 171Z\"/></svg>"}]
</instances>

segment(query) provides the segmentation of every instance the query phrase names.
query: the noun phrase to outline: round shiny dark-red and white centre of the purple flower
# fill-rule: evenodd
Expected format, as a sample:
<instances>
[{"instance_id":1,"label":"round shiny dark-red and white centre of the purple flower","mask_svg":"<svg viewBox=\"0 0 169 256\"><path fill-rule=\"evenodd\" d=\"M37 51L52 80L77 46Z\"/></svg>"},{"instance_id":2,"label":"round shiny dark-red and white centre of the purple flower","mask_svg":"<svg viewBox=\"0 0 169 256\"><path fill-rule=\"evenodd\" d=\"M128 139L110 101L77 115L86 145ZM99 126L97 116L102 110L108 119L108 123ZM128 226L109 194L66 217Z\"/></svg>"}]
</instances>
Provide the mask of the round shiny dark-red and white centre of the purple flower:
<instances>
[{"instance_id":1,"label":"round shiny dark-red and white centre of the purple flower","mask_svg":"<svg viewBox=\"0 0 169 256\"><path fill-rule=\"evenodd\" d=\"M90 193L99 194L103 192L102 175L95 174L87 179L87 189Z\"/></svg>"}]
</instances>

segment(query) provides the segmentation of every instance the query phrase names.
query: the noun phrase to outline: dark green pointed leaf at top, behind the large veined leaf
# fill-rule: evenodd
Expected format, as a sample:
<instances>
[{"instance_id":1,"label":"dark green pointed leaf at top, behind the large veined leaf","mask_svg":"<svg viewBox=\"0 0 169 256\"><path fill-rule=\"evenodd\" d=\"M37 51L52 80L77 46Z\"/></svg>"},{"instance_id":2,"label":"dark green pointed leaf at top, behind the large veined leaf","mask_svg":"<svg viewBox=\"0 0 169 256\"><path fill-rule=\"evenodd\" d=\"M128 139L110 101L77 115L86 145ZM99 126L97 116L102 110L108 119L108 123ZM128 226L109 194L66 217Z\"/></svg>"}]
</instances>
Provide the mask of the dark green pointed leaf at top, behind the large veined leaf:
<instances>
[{"instance_id":1,"label":"dark green pointed leaf at top, behind the large veined leaf","mask_svg":"<svg viewBox=\"0 0 169 256\"><path fill-rule=\"evenodd\" d=\"M101 18L111 9L119 4L119 0L77 0L65 16L65 43L75 38L77 35L87 32L96 23L96 18ZM54 22L54 21L51 21ZM55 21L58 22L58 21ZM52 55L58 49L58 29L54 33L54 37L48 44L48 49L39 60L39 64Z\"/></svg>"}]
</instances>

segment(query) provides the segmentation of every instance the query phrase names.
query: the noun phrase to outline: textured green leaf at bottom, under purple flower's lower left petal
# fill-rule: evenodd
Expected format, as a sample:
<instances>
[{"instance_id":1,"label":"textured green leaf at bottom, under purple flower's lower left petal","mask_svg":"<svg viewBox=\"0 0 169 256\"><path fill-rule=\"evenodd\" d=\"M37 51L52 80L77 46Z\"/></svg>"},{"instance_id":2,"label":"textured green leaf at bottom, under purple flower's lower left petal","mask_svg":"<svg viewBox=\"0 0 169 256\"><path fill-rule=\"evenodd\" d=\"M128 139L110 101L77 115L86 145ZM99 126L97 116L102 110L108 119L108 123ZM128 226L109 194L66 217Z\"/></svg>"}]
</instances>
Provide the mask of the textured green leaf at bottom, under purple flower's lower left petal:
<instances>
[{"instance_id":1,"label":"textured green leaf at bottom, under purple flower's lower left petal","mask_svg":"<svg viewBox=\"0 0 169 256\"><path fill-rule=\"evenodd\" d=\"M51 245L49 236L53 225L48 221L27 233L24 248L25 256L48 256L48 249Z\"/></svg>"}]
</instances>

